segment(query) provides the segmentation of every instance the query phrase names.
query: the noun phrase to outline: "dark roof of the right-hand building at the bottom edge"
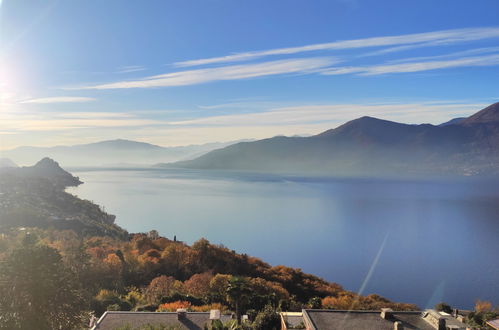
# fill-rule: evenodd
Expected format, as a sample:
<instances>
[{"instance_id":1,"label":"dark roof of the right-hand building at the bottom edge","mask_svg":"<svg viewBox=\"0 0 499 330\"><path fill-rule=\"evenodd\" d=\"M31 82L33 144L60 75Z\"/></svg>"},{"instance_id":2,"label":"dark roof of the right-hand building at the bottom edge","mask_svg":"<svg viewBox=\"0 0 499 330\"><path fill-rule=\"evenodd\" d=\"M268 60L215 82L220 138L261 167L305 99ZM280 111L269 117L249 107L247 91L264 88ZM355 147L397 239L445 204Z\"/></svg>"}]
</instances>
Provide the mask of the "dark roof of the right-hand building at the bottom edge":
<instances>
[{"instance_id":1,"label":"dark roof of the right-hand building at the bottom edge","mask_svg":"<svg viewBox=\"0 0 499 330\"><path fill-rule=\"evenodd\" d=\"M391 312L383 319L379 311L335 311L304 310L307 318L317 330L393 330L393 323L402 322L404 329L434 330L421 318L421 312Z\"/></svg>"}]
</instances>

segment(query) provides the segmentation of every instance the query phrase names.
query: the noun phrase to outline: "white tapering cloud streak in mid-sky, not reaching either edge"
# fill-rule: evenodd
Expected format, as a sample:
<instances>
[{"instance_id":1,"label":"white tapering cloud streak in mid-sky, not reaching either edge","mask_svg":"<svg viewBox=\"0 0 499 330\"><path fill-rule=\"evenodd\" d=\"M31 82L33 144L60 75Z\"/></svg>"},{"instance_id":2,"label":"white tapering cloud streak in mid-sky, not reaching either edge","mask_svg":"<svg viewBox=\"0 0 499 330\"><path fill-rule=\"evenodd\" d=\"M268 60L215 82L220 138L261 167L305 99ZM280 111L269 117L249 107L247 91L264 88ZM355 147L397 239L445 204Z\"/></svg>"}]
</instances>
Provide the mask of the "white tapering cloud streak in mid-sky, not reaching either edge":
<instances>
[{"instance_id":1,"label":"white tapering cloud streak in mid-sky, not reaching either edge","mask_svg":"<svg viewBox=\"0 0 499 330\"><path fill-rule=\"evenodd\" d=\"M212 81L239 80L282 74L318 72L338 60L331 57L286 59L256 64L230 65L216 68L187 70L145 77L139 80L67 89L123 89L196 85Z\"/></svg>"}]
</instances>

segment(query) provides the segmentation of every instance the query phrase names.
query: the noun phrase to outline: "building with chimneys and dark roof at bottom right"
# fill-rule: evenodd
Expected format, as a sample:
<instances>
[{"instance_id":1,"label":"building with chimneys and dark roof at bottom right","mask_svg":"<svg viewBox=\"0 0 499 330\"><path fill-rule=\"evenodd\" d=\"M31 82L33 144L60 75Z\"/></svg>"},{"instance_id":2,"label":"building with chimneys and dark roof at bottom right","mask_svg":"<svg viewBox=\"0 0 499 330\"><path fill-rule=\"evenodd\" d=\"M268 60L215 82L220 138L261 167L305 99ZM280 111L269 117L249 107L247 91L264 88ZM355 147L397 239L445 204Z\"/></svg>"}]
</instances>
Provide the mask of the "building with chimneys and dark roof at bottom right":
<instances>
[{"instance_id":1,"label":"building with chimneys and dark roof at bottom right","mask_svg":"<svg viewBox=\"0 0 499 330\"><path fill-rule=\"evenodd\" d=\"M304 309L301 313L281 313L281 329L306 330L466 330L454 316L435 310L395 312L337 311Z\"/></svg>"}]
</instances>

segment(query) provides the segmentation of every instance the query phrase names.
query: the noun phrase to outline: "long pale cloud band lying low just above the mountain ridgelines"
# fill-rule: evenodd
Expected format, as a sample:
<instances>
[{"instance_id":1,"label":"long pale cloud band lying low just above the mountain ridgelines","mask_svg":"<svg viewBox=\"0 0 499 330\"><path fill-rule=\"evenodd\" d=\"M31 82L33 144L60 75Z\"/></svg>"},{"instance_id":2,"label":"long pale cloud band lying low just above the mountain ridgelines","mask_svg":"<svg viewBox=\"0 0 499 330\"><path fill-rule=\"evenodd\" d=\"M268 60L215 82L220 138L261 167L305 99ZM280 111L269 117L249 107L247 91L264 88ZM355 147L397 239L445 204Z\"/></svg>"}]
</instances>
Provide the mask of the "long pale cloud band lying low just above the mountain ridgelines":
<instances>
[{"instance_id":1,"label":"long pale cloud band lying low just above the mountain ridgelines","mask_svg":"<svg viewBox=\"0 0 499 330\"><path fill-rule=\"evenodd\" d=\"M3 148L20 145L19 141L38 145L76 144L123 137L159 145L202 144L214 141L263 139L275 135L311 135L335 128L360 116L405 123L441 123L454 117L468 116L490 104L467 100L413 103L345 103L275 105L249 113L191 116L179 120L158 118L140 111L103 113L60 113L16 111L0 113ZM168 111L168 110L165 110ZM52 132L58 132L54 140ZM16 142L17 141L17 142ZM1 148L1 147L0 147Z\"/></svg>"}]
</instances>

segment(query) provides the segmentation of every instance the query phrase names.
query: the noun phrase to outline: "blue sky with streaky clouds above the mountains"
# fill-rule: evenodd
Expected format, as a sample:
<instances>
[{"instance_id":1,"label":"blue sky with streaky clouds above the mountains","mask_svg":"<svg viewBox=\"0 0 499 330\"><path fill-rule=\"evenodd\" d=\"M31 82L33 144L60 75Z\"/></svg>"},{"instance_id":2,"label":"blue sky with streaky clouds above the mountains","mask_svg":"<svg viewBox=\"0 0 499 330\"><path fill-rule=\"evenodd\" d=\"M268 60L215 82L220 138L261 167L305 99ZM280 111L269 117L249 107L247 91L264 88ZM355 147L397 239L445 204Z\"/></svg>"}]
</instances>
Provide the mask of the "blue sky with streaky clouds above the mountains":
<instances>
[{"instance_id":1,"label":"blue sky with streaky clouds above the mountains","mask_svg":"<svg viewBox=\"0 0 499 330\"><path fill-rule=\"evenodd\" d=\"M496 0L0 0L0 150L438 124L497 101Z\"/></svg>"}]
</instances>

